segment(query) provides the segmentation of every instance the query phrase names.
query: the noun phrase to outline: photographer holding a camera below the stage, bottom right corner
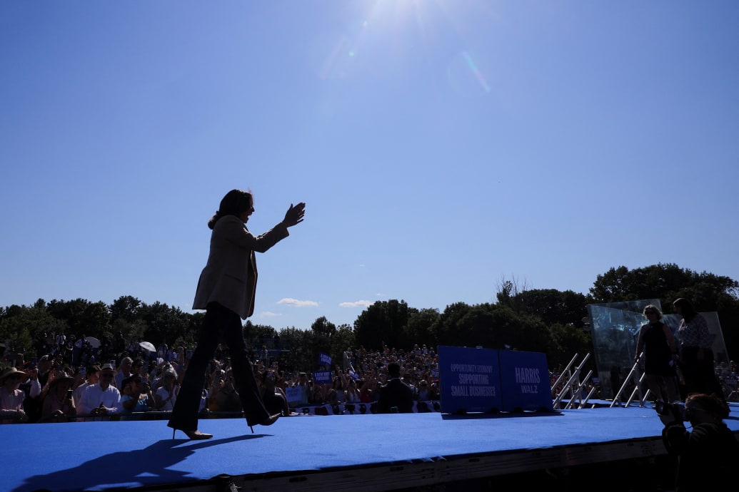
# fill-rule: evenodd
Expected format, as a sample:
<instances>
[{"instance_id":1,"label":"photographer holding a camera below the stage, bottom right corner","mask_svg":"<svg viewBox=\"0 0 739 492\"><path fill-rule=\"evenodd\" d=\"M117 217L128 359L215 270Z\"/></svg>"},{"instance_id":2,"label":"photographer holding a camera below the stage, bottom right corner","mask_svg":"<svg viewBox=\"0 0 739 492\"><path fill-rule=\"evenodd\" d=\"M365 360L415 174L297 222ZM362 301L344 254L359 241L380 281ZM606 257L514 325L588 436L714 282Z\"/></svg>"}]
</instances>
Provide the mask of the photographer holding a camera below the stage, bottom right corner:
<instances>
[{"instance_id":1,"label":"photographer holding a camera below the stage, bottom right corner","mask_svg":"<svg viewBox=\"0 0 739 492\"><path fill-rule=\"evenodd\" d=\"M694 393L680 404L656 407L664 423L662 440L667 452L678 457L675 490L703 491L709 485L723 485L732 479L739 463L739 442L723 423L729 406L715 395ZM689 421L692 432L683 424Z\"/></svg>"}]
</instances>

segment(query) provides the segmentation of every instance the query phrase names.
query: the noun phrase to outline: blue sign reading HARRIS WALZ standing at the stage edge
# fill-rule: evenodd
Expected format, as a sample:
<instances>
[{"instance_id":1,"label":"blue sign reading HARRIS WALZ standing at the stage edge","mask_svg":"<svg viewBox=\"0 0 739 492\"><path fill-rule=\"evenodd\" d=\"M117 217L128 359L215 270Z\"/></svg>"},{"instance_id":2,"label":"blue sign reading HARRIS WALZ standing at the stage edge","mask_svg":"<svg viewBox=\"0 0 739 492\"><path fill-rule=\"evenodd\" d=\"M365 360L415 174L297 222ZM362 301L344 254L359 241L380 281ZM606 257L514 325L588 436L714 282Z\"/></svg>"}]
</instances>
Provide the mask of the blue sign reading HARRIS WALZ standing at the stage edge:
<instances>
[{"instance_id":1,"label":"blue sign reading HARRIS WALZ standing at the stage edge","mask_svg":"<svg viewBox=\"0 0 739 492\"><path fill-rule=\"evenodd\" d=\"M546 354L501 350L498 358L503 412L554 409Z\"/></svg>"}]
</instances>

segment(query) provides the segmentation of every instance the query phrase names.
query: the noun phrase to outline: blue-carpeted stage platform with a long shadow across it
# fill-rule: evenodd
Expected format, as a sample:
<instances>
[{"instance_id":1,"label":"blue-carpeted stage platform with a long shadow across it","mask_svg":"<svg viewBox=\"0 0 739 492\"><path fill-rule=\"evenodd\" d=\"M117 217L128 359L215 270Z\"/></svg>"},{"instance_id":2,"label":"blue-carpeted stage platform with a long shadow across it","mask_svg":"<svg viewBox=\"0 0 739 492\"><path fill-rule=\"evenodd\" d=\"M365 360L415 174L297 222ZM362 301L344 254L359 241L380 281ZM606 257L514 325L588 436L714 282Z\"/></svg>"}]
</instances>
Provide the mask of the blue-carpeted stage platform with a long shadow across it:
<instances>
[{"instance_id":1,"label":"blue-carpeted stage platform with a long shadow across it","mask_svg":"<svg viewBox=\"0 0 739 492\"><path fill-rule=\"evenodd\" d=\"M738 404L726 423L739 435ZM672 460L661 429L651 406L296 415L255 434L240 418L203 419L200 430L214 434L204 441L172 440L166 420L11 424L0 426L0 489L667 490ZM597 482L581 483L586 476Z\"/></svg>"}]
</instances>

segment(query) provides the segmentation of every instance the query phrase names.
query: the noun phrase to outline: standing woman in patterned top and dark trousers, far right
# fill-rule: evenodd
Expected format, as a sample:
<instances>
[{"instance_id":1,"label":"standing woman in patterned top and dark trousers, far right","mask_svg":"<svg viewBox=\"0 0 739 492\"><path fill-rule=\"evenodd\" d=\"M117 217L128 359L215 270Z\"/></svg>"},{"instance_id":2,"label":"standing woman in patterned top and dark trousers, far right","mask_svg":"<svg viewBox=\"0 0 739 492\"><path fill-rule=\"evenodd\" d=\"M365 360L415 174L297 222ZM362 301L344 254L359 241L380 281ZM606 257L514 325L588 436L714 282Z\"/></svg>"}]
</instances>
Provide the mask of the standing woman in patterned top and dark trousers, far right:
<instances>
[{"instance_id":1,"label":"standing woman in patterned top and dark trousers, far right","mask_svg":"<svg viewBox=\"0 0 739 492\"><path fill-rule=\"evenodd\" d=\"M672 307L683 317L678 327L678 364L685 380L686 395L701 392L723 397L721 383L713 369L713 350L706 319L684 297L675 299Z\"/></svg>"}]
</instances>

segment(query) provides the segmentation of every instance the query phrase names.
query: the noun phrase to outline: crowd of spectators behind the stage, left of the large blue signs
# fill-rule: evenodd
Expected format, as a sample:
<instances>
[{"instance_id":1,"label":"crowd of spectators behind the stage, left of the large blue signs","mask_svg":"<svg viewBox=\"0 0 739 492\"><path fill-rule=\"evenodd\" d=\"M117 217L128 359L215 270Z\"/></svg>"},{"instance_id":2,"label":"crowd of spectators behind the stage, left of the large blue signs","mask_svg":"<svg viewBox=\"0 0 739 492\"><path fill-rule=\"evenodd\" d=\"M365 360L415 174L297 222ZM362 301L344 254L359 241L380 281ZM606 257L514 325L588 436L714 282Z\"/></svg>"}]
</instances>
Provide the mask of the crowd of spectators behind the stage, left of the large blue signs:
<instances>
[{"instance_id":1,"label":"crowd of spectators behind the stage, left of the large blue signs","mask_svg":"<svg viewBox=\"0 0 739 492\"><path fill-rule=\"evenodd\" d=\"M50 347L50 353L38 361L16 360L0 373L0 421L67 422L171 412L195 347L170 350L163 345L156 352L142 350L138 344L125 347L118 354L106 353L112 358L105 364L96 364L100 356L91 352L89 366L75 364L83 358L59 350L58 345ZM299 389L306 398L302 403L311 406L371 405L380 401L381 387L394 379L408 388L412 401L440 398L438 356L426 345L416 344L411 350L348 348L341 363L318 367L316 372L282 370L280 361L270 358L268 350L259 352L253 361L259 393L270 414L293 412L287 396L290 389ZM330 374L329 381L314 381L317 374ZM376 412L384 412L384 406L376 408ZM214 415L243 411L228 347L217 346L209 362L199 410ZM410 410L403 406L398 411Z\"/></svg>"}]
</instances>

